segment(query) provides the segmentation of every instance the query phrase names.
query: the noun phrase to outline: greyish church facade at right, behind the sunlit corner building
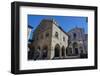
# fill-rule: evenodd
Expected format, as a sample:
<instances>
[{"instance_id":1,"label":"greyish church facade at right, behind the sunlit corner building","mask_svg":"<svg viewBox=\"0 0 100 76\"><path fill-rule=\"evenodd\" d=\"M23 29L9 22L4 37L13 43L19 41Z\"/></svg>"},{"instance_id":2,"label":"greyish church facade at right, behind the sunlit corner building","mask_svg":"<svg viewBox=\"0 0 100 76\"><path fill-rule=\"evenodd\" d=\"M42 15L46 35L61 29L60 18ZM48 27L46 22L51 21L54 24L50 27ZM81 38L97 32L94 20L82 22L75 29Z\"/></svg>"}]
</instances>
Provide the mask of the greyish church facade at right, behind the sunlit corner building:
<instances>
[{"instance_id":1,"label":"greyish church facade at right, behind the sunlit corner building","mask_svg":"<svg viewBox=\"0 0 100 76\"><path fill-rule=\"evenodd\" d=\"M83 28L75 27L68 32L69 45L68 53L72 56L87 58L87 34L84 33Z\"/></svg>"}]
</instances>

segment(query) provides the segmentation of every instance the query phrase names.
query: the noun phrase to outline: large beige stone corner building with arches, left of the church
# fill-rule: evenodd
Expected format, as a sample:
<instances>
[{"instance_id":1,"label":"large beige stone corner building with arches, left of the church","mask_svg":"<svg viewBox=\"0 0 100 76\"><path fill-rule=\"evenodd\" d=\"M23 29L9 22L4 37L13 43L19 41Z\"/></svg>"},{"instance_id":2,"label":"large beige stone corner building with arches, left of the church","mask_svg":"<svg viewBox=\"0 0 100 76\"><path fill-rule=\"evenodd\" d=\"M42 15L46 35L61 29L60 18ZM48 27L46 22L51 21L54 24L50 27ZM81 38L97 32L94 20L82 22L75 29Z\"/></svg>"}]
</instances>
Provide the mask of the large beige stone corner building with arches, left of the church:
<instances>
[{"instance_id":1,"label":"large beige stone corner building with arches, left of the church","mask_svg":"<svg viewBox=\"0 0 100 76\"><path fill-rule=\"evenodd\" d=\"M32 45L40 51L39 59L64 58L68 35L53 19L44 19L33 32Z\"/></svg>"}]
</instances>

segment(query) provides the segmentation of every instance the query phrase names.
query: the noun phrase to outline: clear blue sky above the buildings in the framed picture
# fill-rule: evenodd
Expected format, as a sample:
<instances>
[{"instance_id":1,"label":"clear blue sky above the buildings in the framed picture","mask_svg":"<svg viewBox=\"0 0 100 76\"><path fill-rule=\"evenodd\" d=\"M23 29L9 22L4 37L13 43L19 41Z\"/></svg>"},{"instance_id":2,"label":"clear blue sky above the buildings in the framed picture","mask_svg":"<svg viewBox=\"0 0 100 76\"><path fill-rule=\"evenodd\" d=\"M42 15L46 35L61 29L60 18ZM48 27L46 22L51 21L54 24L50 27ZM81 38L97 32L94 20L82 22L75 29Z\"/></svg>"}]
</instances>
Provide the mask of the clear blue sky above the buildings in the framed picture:
<instances>
[{"instance_id":1,"label":"clear blue sky above the buildings in the framed picture","mask_svg":"<svg viewBox=\"0 0 100 76\"><path fill-rule=\"evenodd\" d=\"M28 15L28 25L33 27L33 31L43 19L53 18L65 32L79 27L84 28L85 33L88 31L87 17L78 16L53 16L53 15Z\"/></svg>"}]
</instances>

